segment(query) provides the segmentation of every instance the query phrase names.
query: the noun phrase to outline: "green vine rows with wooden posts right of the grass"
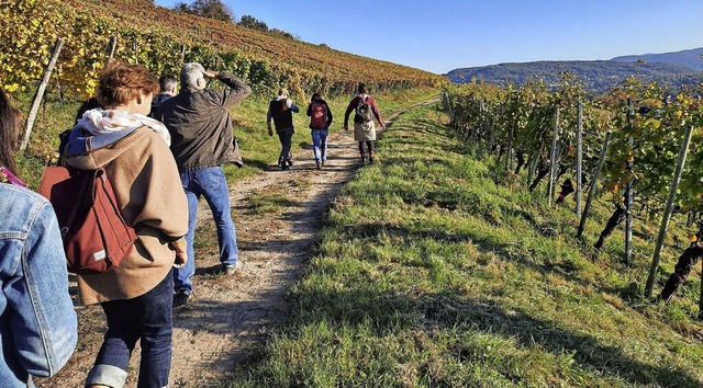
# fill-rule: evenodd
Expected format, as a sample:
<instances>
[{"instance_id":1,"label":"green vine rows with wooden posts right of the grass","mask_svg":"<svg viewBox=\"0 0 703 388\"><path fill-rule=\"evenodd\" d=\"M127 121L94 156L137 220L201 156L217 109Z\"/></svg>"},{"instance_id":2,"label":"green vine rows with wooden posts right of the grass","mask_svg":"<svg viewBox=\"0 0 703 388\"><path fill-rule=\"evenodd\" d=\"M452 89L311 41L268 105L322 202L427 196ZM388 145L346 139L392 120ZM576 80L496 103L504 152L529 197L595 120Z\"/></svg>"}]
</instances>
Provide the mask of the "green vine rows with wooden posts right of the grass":
<instances>
[{"instance_id":1,"label":"green vine rows with wooden posts right of the grass","mask_svg":"<svg viewBox=\"0 0 703 388\"><path fill-rule=\"evenodd\" d=\"M647 296L659 271L658 253L669 216L687 229L692 244L703 236L700 90L672 95L632 77L606 95L589 99L581 82L565 72L554 92L539 80L520 88L469 84L453 89L445 93L444 109L458 136L494 155L498 166L524 179L529 191L546 181L549 203L553 198L562 203L574 193L576 213L582 216L578 235L588 217L582 215L587 186L612 202L614 212L593 247L594 260L604 240L626 220L623 262L631 264L633 222L662 219ZM678 247L679 252L685 248Z\"/></svg>"}]
</instances>

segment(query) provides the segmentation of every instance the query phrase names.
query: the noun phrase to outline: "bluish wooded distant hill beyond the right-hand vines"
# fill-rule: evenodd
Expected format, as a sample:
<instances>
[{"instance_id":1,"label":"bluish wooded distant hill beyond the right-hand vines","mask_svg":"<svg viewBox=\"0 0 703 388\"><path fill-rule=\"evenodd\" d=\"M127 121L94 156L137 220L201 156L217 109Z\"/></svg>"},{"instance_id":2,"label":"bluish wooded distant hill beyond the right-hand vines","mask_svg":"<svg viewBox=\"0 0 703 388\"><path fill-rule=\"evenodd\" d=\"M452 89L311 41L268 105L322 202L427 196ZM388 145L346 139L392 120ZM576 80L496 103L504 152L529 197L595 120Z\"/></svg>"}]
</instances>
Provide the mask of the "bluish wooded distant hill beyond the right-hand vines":
<instances>
[{"instance_id":1,"label":"bluish wooded distant hill beyond the right-hand vines","mask_svg":"<svg viewBox=\"0 0 703 388\"><path fill-rule=\"evenodd\" d=\"M529 79L542 78L548 84L556 87L560 72L572 71L583 80L585 89L595 94L610 91L631 76L637 76L647 82L657 81L672 88L701 82L701 72L690 68L647 61L646 59L645 61L565 60L499 64L455 69L449 71L447 76L455 83L476 80L477 82L501 85L509 83L520 85Z\"/></svg>"}]
</instances>

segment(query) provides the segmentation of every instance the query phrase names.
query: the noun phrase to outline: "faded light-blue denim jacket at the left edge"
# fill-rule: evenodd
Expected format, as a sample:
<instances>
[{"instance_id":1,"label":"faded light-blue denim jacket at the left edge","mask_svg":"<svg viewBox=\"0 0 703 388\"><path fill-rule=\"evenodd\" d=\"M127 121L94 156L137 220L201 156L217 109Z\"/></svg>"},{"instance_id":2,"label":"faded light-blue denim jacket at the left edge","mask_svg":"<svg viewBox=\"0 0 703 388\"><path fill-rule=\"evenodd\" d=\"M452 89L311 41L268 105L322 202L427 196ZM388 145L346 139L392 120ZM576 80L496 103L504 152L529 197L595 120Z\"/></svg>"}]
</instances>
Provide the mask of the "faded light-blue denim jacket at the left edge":
<instances>
[{"instance_id":1,"label":"faded light-blue denim jacket at the left edge","mask_svg":"<svg viewBox=\"0 0 703 388\"><path fill-rule=\"evenodd\" d=\"M66 256L48 201L0 183L0 387L32 386L68 361L77 321Z\"/></svg>"}]
</instances>

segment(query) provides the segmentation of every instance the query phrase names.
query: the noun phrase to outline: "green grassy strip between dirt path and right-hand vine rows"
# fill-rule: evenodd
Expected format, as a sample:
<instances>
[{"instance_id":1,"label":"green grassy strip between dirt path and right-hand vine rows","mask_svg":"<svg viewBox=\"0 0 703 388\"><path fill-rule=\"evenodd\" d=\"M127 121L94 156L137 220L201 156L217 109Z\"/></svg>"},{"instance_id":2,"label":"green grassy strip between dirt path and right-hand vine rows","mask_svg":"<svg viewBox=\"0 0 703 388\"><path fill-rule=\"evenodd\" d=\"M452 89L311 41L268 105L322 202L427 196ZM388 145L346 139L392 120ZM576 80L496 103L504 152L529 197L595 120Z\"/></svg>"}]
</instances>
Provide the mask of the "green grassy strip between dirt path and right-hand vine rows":
<instances>
[{"instance_id":1,"label":"green grassy strip between dirt path and right-hand vine rows","mask_svg":"<svg viewBox=\"0 0 703 388\"><path fill-rule=\"evenodd\" d=\"M325 220L292 317L231 386L702 386L696 276L669 305L639 296L656 225L638 222L631 265L620 231L592 262L605 196L579 241L569 206L440 122L426 107L383 134Z\"/></svg>"}]
</instances>

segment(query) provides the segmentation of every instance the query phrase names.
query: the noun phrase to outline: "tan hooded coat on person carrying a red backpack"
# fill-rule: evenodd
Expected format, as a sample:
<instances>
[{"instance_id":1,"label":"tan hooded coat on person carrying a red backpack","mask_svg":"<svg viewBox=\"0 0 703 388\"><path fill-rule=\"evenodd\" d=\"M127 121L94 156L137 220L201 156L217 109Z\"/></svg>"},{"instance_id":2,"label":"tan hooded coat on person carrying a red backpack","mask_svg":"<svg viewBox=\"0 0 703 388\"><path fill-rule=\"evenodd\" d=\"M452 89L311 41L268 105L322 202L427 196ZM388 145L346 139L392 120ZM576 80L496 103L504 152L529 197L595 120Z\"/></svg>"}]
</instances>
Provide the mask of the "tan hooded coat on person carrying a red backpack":
<instances>
[{"instance_id":1,"label":"tan hooded coat on person carrying a red backpack","mask_svg":"<svg viewBox=\"0 0 703 388\"><path fill-rule=\"evenodd\" d=\"M141 127L110 146L69 157L66 163L83 170L105 166L122 215L137 233L134 250L119 267L78 276L81 304L144 295L166 277L174 262L187 260L188 202L174 157L154 130Z\"/></svg>"}]
</instances>

